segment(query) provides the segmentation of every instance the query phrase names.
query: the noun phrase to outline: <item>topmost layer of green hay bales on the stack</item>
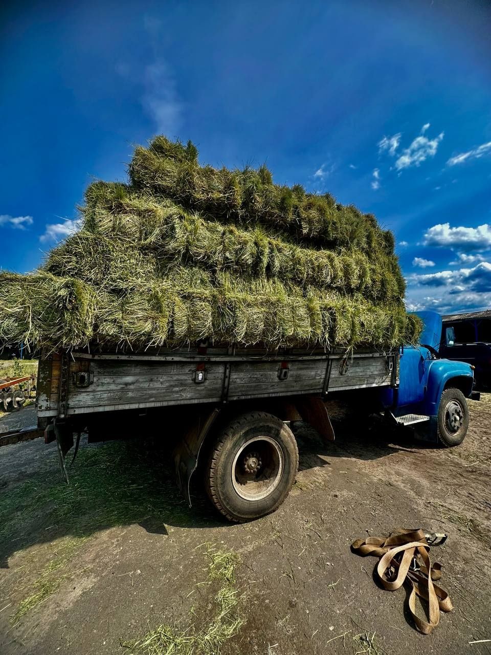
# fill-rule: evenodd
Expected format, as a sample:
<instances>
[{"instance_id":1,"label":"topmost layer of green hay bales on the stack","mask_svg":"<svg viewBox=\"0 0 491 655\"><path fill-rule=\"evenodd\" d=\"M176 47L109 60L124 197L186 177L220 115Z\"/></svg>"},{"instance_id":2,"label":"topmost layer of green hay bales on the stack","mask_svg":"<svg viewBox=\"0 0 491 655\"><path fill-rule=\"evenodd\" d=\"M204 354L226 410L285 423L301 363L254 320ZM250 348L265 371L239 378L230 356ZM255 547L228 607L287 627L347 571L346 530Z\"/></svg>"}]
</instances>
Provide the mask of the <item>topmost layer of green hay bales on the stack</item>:
<instances>
[{"instance_id":1,"label":"topmost layer of green hay bales on the stack","mask_svg":"<svg viewBox=\"0 0 491 655\"><path fill-rule=\"evenodd\" d=\"M170 198L215 219L263 223L327 248L393 252L392 234L382 231L371 216L352 205L336 204L329 194L303 195L299 187L294 192L274 185L264 167L258 171L200 167L194 160L162 157L151 144L148 149L136 148L129 174L138 191Z\"/></svg>"}]
</instances>

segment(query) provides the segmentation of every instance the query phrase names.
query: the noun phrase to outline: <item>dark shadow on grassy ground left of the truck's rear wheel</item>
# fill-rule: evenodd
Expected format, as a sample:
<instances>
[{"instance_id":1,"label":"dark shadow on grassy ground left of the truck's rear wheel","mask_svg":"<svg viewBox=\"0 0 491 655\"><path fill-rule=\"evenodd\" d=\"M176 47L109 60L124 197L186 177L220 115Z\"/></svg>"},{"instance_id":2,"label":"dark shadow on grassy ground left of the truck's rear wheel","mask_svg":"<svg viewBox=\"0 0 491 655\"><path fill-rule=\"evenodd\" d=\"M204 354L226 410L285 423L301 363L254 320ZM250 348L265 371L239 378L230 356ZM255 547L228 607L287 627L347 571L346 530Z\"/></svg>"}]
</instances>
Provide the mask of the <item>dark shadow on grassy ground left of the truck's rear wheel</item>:
<instances>
[{"instance_id":1,"label":"dark shadow on grassy ground left of the truck's rear wheel","mask_svg":"<svg viewBox=\"0 0 491 655\"><path fill-rule=\"evenodd\" d=\"M223 525L204 498L192 510L180 495L169 455L141 440L82 444L62 481L56 451L27 479L0 496L0 567L10 555L70 536L84 538L118 525L166 534L173 527Z\"/></svg>"}]
</instances>

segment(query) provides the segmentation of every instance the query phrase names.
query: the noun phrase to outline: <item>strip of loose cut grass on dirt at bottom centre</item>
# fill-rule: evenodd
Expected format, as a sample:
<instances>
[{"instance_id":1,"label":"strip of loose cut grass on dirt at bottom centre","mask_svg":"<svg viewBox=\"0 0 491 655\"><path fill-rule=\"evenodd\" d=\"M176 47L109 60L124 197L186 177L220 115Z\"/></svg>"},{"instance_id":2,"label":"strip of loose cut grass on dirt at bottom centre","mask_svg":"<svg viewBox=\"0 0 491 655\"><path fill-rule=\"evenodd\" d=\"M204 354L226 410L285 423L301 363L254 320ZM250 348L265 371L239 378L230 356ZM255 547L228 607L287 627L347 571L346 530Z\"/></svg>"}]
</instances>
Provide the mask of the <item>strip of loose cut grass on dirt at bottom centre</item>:
<instances>
[{"instance_id":1,"label":"strip of loose cut grass on dirt at bottom centre","mask_svg":"<svg viewBox=\"0 0 491 655\"><path fill-rule=\"evenodd\" d=\"M213 546L208 546L206 555L209 558L206 584L219 586L213 597L215 608L211 618L196 627L192 623L194 612L191 610L191 623L183 629L162 624L137 641L122 642L131 655L212 655L238 633L244 624L237 611L239 596L235 569L239 563L238 555Z\"/></svg>"}]
</instances>

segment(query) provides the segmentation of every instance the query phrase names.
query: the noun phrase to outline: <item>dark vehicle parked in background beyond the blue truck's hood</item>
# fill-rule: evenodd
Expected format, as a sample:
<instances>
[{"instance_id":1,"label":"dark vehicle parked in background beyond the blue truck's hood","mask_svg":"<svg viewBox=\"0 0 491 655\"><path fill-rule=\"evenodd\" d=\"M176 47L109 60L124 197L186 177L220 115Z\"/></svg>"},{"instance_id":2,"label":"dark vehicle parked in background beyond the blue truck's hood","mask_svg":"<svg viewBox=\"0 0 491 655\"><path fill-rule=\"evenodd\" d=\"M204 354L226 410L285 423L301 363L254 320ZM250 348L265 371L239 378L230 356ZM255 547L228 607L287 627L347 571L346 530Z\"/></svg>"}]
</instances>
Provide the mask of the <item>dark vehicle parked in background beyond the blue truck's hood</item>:
<instances>
[{"instance_id":1,"label":"dark vehicle parked in background beyond the blue truck's hood","mask_svg":"<svg viewBox=\"0 0 491 655\"><path fill-rule=\"evenodd\" d=\"M491 309L442 317L439 352L448 360L471 364L477 388L491 385Z\"/></svg>"}]
</instances>

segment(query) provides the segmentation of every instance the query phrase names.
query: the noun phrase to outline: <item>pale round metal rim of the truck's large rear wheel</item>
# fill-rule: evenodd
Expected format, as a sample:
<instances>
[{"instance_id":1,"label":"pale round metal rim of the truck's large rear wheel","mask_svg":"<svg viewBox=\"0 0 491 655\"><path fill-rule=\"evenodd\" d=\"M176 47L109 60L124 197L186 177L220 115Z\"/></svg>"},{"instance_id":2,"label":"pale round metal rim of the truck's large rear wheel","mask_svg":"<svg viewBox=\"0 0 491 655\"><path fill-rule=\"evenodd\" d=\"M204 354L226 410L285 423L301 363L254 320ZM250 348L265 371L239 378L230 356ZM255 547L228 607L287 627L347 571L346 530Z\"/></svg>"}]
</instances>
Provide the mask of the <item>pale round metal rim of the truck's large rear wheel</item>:
<instances>
[{"instance_id":1,"label":"pale round metal rim of the truck's large rear wheel","mask_svg":"<svg viewBox=\"0 0 491 655\"><path fill-rule=\"evenodd\" d=\"M261 500L278 487L283 468L280 444L271 437L254 437L234 457L232 485L244 500Z\"/></svg>"}]
</instances>

